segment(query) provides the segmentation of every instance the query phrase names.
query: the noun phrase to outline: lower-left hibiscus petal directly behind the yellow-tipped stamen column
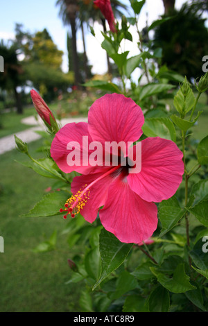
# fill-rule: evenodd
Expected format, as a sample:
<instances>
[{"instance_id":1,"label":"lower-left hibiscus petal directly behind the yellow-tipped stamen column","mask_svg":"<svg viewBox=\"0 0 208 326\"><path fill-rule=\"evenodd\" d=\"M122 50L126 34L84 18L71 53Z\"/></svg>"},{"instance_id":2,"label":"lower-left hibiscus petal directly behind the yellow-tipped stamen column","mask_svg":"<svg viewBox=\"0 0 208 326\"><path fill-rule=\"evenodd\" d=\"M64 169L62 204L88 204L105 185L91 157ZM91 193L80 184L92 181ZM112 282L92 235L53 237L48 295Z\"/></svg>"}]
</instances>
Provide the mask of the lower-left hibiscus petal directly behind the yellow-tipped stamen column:
<instances>
[{"instance_id":1,"label":"lower-left hibiscus petal directly behind the yellow-tipped stamen column","mask_svg":"<svg viewBox=\"0 0 208 326\"><path fill-rule=\"evenodd\" d=\"M71 183L71 192L73 194L76 194L78 190L83 188L83 186L88 186L90 183L101 177L101 175L103 175L108 170L109 167L108 169L102 168L101 171L98 173L80 175L78 177L73 178L73 181ZM96 171L98 171L98 168L96 169ZM87 200L85 207L83 207L83 209L80 211L80 214L89 223L94 222L98 215L98 209L105 204L105 200L107 198L107 191L113 180L114 178L112 177L112 175L106 175L104 178L98 180L92 187L90 187L89 199Z\"/></svg>"}]
</instances>

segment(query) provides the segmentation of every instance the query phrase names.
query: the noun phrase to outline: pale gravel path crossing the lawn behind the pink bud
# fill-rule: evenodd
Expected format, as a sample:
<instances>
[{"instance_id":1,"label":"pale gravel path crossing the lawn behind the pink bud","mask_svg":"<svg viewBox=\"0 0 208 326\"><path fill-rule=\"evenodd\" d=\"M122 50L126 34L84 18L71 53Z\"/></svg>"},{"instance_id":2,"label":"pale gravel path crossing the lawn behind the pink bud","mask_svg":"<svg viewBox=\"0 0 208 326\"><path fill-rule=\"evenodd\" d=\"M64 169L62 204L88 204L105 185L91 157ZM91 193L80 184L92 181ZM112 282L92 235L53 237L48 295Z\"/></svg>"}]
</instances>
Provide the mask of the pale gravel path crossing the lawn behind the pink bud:
<instances>
[{"instance_id":1,"label":"pale gravel path crossing the lawn behind the pink bud","mask_svg":"<svg viewBox=\"0 0 208 326\"><path fill-rule=\"evenodd\" d=\"M81 117L81 118L62 119L60 123L62 126L64 126L67 123L71 123L71 122L77 123L81 121L87 122L87 118ZM15 135L19 137L22 141L26 143L30 143L31 141L35 141L41 138L41 136L35 132L36 130L45 130L43 121L41 119L38 119L37 121L35 117L24 118L21 120L21 123L24 123L28 126L35 126L35 127L28 128L24 131L16 132L15 134L0 138L0 155L8 151L12 151L12 149L16 148Z\"/></svg>"}]
</instances>

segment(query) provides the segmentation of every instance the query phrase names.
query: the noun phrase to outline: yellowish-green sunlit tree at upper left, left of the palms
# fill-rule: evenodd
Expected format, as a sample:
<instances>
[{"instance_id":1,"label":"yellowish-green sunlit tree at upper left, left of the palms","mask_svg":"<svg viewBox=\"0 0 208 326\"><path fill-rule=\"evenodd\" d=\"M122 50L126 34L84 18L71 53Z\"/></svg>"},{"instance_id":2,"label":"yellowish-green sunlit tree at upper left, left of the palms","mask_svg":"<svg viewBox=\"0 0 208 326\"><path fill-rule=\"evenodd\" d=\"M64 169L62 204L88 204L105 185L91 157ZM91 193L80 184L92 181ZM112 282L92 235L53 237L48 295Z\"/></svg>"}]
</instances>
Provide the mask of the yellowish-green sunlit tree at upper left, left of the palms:
<instances>
[{"instance_id":1,"label":"yellowish-green sunlit tree at upper left, left of the palms","mask_svg":"<svg viewBox=\"0 0 208 326\"><path fill-rule=\"evenodd\" d=\"M54 89L64 91L73 84L73 74L64 74L61 69L63 52L54 44L46 28L35 35L25 32L21 25L16 26L16 31L19 54L24 57L21 65L25 78L46 101L51 101L57 95Z\"/></svg>"}]
</instances>

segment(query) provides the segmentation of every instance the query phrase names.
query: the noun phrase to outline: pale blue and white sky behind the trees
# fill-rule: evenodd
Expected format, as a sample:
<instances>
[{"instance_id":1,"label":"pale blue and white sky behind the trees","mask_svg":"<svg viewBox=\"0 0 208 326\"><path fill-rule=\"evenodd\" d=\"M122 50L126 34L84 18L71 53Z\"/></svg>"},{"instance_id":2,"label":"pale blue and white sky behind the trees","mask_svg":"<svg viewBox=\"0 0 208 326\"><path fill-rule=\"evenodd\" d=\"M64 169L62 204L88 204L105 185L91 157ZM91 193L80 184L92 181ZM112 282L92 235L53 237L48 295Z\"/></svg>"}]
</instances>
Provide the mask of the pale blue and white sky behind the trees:
<instances>
[{"instance_id":1,"label":"pale blue and white sky behind the trees","mask_svg":"<svg viewBox=\"0 0 208 326\"><path fill-rule=\"evenodd\" d=\"M128 0L120 0L130 5ZM186 0L175 0L175 8L180 9ZM0 0L1 20L0 20L0 40L8 40L15 37L15 24L23 24L26 31L35 33L46 28L51 35L53 42L58 49L64 52L62 70L68 71L67 58L67 32L68 26L63 26L62 19L59 17L59 8L55 6L56 0ZM164 14L162 0L146 0L146 4L141 10L139 17L139 29L146 26L146 20L150 25L160 15ZM85 40L87 45L87 57L89 64L93 66L93 74L105 74L107 62L105 51L101 48L103 35L102 27L94 25L96 37L93 37L85 26ZM131 30L133 40L135 31ZM77 33L78 51L83 51L83 42L80 32ZM125 42L125 51L130 51L130 55L139 54L137 42ZM1 53L0 53L1 55Z\"/></svg>"}]
</instances>

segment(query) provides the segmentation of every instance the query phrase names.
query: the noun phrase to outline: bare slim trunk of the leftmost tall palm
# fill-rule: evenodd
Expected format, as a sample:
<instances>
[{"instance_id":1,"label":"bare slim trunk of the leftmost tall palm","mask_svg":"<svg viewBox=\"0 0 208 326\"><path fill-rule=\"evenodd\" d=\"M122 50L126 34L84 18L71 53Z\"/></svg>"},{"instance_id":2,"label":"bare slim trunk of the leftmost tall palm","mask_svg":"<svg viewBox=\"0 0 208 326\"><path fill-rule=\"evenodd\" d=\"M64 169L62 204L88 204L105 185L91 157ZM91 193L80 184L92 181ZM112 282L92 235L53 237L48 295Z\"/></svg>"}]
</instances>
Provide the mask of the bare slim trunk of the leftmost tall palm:
<instances>
[{"instance_id":1,"label":"bare slim trunk of the leftmost tall palm","mask_svg":"<svg viewBox=\"0 0 208 326\"><path fill-rule=\"evenodd\" d=\"M76 22L75 19L70 19L71 24L71 37L72 37L72 58L73 58L73 72L74 72L74 83L78 89L80 89L80 74L79 74L79 63L78 53L76 47Z\"/></svg>"}]
</instances>

